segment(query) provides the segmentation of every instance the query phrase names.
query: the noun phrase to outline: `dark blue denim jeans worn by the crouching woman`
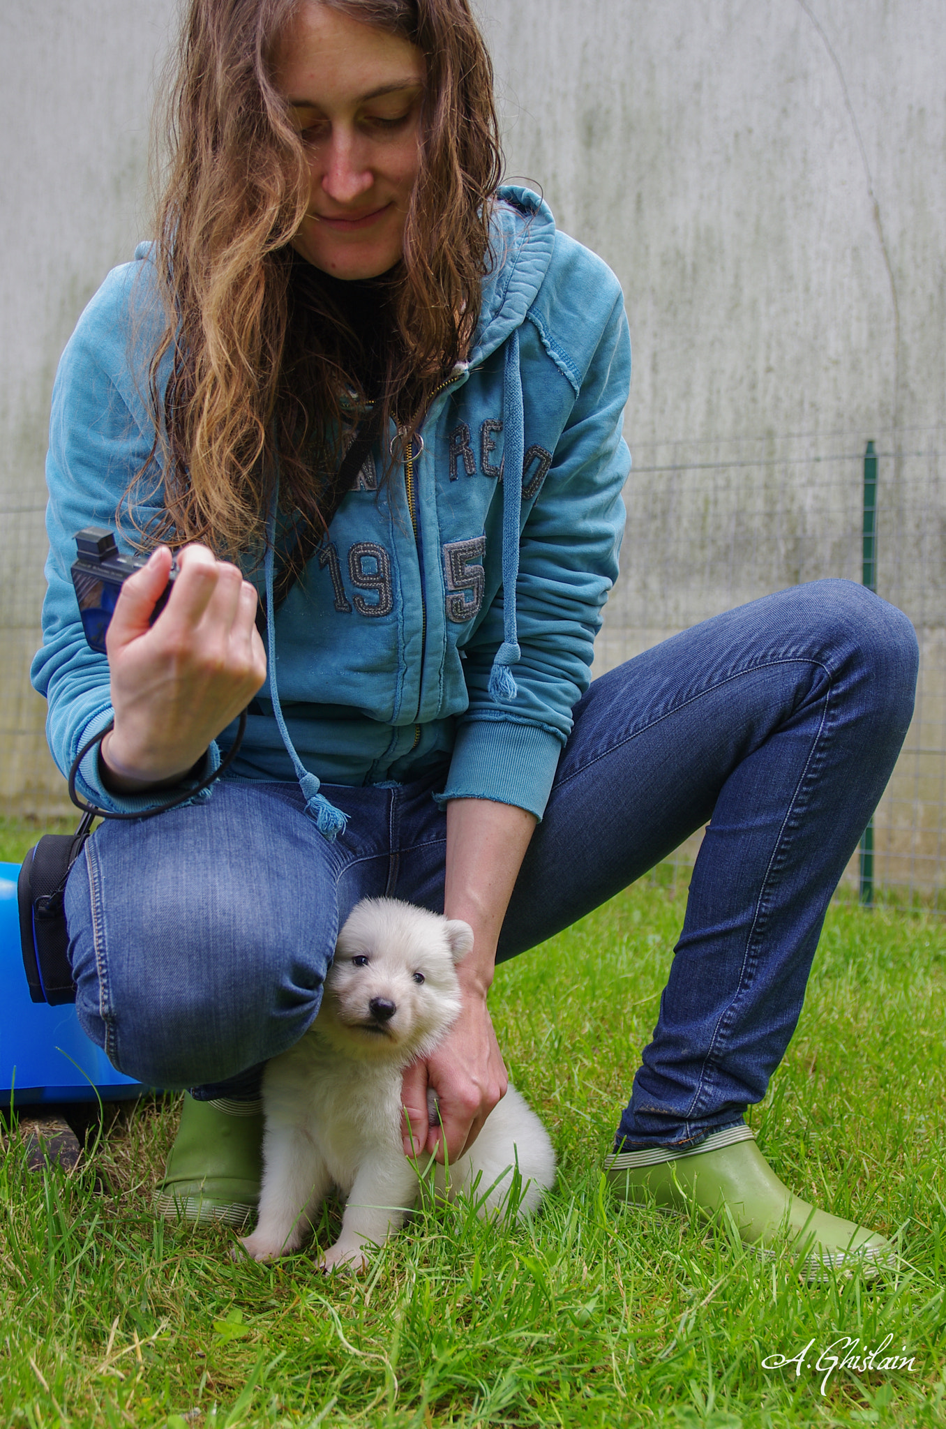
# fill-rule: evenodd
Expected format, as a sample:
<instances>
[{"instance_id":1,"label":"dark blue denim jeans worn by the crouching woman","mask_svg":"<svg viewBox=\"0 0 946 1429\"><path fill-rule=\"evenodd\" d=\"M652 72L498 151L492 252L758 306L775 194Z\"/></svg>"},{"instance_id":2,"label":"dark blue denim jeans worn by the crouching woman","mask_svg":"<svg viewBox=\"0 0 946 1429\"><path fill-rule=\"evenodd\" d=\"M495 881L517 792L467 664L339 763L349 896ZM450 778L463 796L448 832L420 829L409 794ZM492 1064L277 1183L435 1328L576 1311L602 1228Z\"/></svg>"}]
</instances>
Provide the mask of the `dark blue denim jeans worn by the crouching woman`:
<instances>
[{"instance_id":1,"label":"dark blue denim jeans worn by the crouching woman","mask_svg":"<svg viewBox=\"0 0 946 1429\"><path fill-rule=\"evenodd\" d=\"M693 1143L765 1095L825 909L906 735L916 669L906 616L829 580L664 640L576 706L500 959L709 820L619 1143ZM316 1016L359 899L442 910L437 787L327 789L350 816L336 843L289 783L221 782L206 803L103 825L66 893L84 1030L149 1085L254 1095L266 1060Z\"/></svg>"}]
</instances>

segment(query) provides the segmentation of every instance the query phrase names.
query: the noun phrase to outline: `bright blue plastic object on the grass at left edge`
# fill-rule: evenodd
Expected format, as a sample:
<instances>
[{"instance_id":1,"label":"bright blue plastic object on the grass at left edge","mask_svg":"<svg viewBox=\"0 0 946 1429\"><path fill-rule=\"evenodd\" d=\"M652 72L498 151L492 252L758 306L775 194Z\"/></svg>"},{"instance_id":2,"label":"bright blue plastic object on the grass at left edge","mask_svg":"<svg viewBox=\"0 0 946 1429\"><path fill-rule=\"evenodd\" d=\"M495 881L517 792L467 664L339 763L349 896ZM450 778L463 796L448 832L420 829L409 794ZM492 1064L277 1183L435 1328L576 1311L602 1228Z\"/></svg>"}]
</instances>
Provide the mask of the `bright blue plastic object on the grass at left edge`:
<instances>
[{"instance_id":1,"label":"bright blue plastic object on the grass at left edge","mask_svg":"<svg viewBox=\"0 0 946 1429\"><path fill-rule=\"evenodd\" d=\"M109 1062L79 1026L71 1005L30 1002L20 952L19 863L0 863L0 1100L114 1102L146 1090Z\"/></svg>"}]
</instances>

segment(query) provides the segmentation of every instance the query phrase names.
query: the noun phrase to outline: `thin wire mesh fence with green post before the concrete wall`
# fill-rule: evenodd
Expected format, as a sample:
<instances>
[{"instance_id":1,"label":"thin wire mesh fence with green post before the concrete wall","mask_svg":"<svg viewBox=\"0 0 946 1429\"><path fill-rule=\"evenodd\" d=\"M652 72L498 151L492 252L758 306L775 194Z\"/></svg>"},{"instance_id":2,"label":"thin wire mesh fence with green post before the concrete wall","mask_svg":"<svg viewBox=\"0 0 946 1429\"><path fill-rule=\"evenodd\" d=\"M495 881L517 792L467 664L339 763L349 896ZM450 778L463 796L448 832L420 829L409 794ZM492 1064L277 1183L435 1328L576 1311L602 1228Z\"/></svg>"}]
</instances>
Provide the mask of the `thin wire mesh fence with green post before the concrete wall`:
<instances>
[{"instance_id":1,"label":"thin wire mesh fence with green post before the concrete wall","mask_svg":"<svg viewBox=\"0 0 946 1429\"><path fill-rule=\"evenodd\" d=\"M865 450L876 446L875 579L920 643L916 713L873 820L879 897L946 912L946 427L634 447L622 576L594 673L786 586L865 574ZM70 813L30 687L46 533L39 499L0 493L0 815ZM677 850L684 879L699 836ZM857 860L846 882L856 886Z\"/></svg>"}]
</instances>

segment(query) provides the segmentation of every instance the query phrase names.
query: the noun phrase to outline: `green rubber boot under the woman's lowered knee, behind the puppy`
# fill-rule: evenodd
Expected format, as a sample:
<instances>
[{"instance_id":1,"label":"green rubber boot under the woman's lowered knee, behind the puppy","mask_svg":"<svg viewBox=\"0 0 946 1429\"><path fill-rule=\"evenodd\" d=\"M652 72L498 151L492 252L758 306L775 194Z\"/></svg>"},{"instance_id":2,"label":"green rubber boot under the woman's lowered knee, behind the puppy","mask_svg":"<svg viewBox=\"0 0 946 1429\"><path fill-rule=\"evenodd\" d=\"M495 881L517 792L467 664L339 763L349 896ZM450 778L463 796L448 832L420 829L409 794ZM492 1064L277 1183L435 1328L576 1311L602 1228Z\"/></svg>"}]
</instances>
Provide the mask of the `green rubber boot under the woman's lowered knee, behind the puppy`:
<instances>
[{"instance_id":1,"label":"green rubber boot under the woman's lowered knee, behind the puppy","mask_svg":"<svg viewBox=\"0 0 946 1429\"><path fill-rule=\"evenodd\" d=\"M262 1103L194 1102L184 1093L154 1212L169 1220L244 1226L259 1206L262 1175Z\"/></svg>"}]
</instances>

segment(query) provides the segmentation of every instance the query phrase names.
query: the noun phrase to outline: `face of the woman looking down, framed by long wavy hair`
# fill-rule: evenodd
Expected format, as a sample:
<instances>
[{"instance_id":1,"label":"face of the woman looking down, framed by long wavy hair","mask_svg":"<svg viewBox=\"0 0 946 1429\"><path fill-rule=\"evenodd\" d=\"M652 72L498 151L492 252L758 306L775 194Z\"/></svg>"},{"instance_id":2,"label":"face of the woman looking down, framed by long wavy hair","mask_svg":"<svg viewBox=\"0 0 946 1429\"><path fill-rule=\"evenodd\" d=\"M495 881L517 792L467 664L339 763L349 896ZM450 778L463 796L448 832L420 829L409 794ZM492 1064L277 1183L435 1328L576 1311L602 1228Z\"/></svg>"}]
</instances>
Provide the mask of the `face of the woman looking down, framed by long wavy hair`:
<instances>
[{"instance_id":1,"label":"face of the woman looking down, framed by long wavy hair","mask_svg":"<svg viewBox=\"0 0 946 1429\"><path fill-rule=\"evenodd\" d=\"M377 277L400 259L420 166L424 59L416 46L304 0L276 51L276 83L309 156L293 247L323 273Z\"/></svg>"}]
</instances>

